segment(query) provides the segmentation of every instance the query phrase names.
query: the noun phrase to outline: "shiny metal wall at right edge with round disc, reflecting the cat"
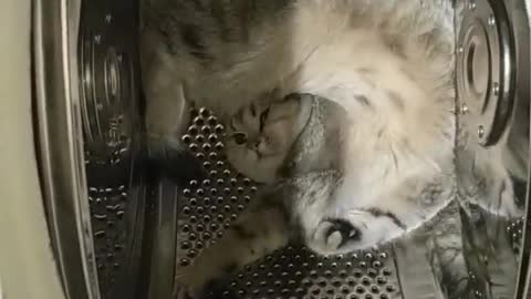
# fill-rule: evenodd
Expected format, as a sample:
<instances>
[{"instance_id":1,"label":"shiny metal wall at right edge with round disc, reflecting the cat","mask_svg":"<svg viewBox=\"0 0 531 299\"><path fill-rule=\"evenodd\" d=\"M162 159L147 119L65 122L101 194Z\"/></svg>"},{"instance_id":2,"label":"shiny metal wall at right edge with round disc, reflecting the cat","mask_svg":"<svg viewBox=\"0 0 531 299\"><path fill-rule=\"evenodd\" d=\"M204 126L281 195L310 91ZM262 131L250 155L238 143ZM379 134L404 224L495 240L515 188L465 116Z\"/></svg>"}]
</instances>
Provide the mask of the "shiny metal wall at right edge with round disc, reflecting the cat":
<instances>
[{"instance_id":1,"label":"shiny metal wall at right edge with round disc, reflecting the cat","mask_svg":"<svg viewBox=\"0 0 531 299\"><path fill-rule=\"evenodd\" d=\"M529 9L530 1L456 1L456 165L476 298L527 298Z\"/></svg>"}]
</instances>

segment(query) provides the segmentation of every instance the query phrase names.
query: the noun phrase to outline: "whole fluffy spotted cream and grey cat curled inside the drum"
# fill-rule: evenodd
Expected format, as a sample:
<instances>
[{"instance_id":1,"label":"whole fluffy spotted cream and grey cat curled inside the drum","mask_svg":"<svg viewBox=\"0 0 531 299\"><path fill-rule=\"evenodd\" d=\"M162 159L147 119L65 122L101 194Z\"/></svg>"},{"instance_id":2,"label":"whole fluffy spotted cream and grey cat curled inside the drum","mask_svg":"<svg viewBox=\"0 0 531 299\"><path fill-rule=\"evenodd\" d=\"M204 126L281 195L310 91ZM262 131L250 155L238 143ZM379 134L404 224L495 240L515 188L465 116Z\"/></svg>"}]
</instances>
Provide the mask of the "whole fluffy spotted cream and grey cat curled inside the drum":
<instances>
[{"instance_id":1,"label":"whole fluffy spotted cream and grey cat curled inside the drum","mask_svg":"<svg viewBox=\"0 0 531 299\"><path fill-rule=\"evenodd\" d=\"M249 212L257 215L239 219L211 250L230 251L249 235L278 247L290 230L317 254L343 254L404 236L449 205L457 186L452 22L449 0L145 2L152 154L185 151L179 135L194 103L227 124L231 164L270 186ZM497 213L511 216L507 198ZM269 223L277 229L263 228ZM259 256L208 250L177 278L186 286L178 298L238 257L239 265Z\"/></svg>"}]
</instances>

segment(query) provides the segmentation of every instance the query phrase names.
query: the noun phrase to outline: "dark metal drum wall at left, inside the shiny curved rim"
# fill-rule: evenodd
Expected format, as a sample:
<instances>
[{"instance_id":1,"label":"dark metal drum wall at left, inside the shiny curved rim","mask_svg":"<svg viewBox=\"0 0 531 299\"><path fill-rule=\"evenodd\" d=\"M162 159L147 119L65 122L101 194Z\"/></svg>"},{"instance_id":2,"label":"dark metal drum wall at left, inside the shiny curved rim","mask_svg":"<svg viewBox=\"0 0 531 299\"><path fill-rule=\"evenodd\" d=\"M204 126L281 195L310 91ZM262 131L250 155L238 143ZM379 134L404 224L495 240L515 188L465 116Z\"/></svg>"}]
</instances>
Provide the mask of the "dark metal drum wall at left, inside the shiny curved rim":
<instances>
[{"instance_id":1,"label":"dark metal drum wall at left, inside the shiny curved rim","mask_svg":"<svg viewBox=\"0 0 531 299\"><path fill-rule=\"evenodd\" d=\"M81 116L102 298L131 298L140 262L145 195L131 32L136 9L134 1L84 1L80 24Z\"/></svg>"}]
</instances>

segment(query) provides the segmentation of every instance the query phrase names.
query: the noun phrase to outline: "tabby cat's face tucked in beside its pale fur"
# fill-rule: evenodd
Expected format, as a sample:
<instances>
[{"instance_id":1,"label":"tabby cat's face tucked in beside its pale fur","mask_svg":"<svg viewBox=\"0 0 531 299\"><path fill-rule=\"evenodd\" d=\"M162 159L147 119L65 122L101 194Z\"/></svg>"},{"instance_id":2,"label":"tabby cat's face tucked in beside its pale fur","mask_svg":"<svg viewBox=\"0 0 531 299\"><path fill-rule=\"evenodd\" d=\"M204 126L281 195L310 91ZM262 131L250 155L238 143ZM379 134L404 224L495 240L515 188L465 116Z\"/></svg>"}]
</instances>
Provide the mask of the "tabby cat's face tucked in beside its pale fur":
<instances>
[{"instance_id":1,"label":"tabby cat's face tucked in beside its pale fur","mask_svg":"<svg viewBox=\"0 0 531 299\"><path fill-rule=\"evenodd\" d=\"M227 158L259 183L273 183L288 153L310 120L310 95L266 94L239 111L228 125Z\"/></svg>"}]
</instances>

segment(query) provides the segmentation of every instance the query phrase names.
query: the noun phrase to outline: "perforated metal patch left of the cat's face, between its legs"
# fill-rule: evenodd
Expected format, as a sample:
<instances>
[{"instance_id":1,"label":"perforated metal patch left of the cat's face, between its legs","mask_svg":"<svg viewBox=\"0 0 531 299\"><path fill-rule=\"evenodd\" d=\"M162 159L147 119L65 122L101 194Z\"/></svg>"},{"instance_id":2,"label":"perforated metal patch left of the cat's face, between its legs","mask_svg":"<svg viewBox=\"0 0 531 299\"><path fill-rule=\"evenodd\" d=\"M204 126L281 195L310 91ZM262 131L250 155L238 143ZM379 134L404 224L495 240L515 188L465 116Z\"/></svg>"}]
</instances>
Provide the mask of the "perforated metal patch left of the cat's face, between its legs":
<instances>
[{"instance_id":1,"label":"perforated metal patch left of the cat's face, between its legs","mask_svg":"<svg viewBox=\"0 0 531 299\"><path fill-rule=\"evenodd\" d=\"M183 142L201 161L208 177L190 181L180 192L177 259L190 264L230 227L257 192L249 178L232 169L223 154L225 126L208 110L191 110L191 124Z\"/></svg>"}]
</instances>

